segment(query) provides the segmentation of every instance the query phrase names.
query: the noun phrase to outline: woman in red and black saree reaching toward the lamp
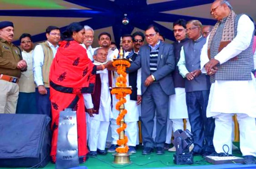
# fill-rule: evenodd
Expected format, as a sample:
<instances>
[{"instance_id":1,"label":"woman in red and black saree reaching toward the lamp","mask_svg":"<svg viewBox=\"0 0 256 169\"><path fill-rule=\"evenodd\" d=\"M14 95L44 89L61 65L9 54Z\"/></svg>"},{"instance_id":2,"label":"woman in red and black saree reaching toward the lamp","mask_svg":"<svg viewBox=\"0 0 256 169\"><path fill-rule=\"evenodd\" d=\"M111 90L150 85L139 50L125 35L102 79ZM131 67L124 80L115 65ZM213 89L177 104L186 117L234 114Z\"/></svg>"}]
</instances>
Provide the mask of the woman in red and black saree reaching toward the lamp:
<instances>
[{"instance_id":1,"label":"woman in red and black saree reaching toward the lamp","mask_svg":"<svg viewBox=\"0 0 256 169\"><path fill-rule=\"evenodd\" d=\"M80 163L85 162L88 153L86 145L86 123L84 93L93 93L96 70L110 67L94 65L80 45L85 39L85 30L79 23L67 27L65 40L60 42L50 67L50 100L52 111L51 161L55 163L60 111L65 108L76 110L78 155Z\"/></svg>"}]
</instances>

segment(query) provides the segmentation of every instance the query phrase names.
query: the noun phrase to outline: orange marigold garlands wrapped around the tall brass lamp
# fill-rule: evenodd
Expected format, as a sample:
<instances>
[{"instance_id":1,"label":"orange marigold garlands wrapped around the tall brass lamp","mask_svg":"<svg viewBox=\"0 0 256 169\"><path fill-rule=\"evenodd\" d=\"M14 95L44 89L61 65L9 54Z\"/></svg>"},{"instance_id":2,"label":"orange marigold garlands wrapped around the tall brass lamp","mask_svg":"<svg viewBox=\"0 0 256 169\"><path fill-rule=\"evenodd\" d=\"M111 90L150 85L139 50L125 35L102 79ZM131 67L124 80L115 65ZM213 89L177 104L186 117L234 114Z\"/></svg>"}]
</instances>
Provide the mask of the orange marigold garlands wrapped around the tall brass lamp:
<instances>
[{"instance_id":1,"label":"orange marigold garlands wrapped around the tall brass lamp","mask_svg":"<svg viewBox=\"0 0 256 169\"><path fill-rule=\"evenodd\" d=\"M122 88L126 88L127 85L127 80L126 80L126 72L125 69L126 67L130 67L131 63L128 60L115 60L113 62L113 66L117 67L117 73L121 76L119 76L118 78L116 78L116 83L115 86L116 87L120 87L118 88L114 88L111 90L111 94L115 94L115 98L116 99L121 99L120 101L118 101L115 105L115 109L120 110L120 106L122 104L126 103L126 99L125 96L126 94L131 94L131 89L122 89ZM118 117L116 118L116 124L120 125L120 121L125 117L125 114L127 114L127 110L123 109L120 114L118 115ZM118 129L116 129L117 133L120 134L121 131L125 130L127 127L127 124L123 124L122 127L119 127ZM128 137L125 135L124 139L118 139L117 140L117 144L119 146L121 145L125 145L124 147L118 147L115 149L115 151L117 153L127 153L129 150L129 147L127 145L128 142Z\"/></svg>"}]
</instances>

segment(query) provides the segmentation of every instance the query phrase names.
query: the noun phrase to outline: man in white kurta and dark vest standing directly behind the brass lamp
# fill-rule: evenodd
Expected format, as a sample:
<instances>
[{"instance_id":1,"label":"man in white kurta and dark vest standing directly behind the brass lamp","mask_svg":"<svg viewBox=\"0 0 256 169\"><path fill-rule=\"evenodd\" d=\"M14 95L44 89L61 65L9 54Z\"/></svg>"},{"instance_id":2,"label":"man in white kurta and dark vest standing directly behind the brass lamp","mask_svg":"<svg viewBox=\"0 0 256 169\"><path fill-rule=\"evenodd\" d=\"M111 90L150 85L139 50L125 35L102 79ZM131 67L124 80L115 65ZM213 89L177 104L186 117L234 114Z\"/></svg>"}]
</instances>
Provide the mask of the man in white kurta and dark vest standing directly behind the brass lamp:
<instances>
[{"instance_id":1,"label":"man in white kurta and dark vest standing directly behind the brass lamp","mask_svg":"<svg viewBox=\"0 0 256 169\"><path fill-rule=\"evenodd\" d=\"M132 46L133 46L133 41L132 41L132 36L131 35L124 35L123 36L123 49L125 50L125 55L124 57L126 59L134 58ZM131 55L131 54L132 55ZM130 55L129 55L130 54ZM115 72L114 78L113 78L113 84L115 84L117 78L117 73ZM126 84L127 86L130 86L131 82L129 81L129 74L126 76ZM136 153L136 144L137 144L137 137L138 137L138 127L137 127L137 122L139 121L139 112L141 109L141 71L137 72L137 78L135 79L136 81L136 86L137 88L137 100L132 100L130 95L126 95L126 103L125 103L125 109L127 109L127 114L125 114L125 123L127 124L127 127L125 129L125 135L128 137L128 146L129 146L129 153ZM134 88L134 87L132 87ZM138 99L138 96L140 99ZM116 118L119 114L119 111L115 109L115 104L118 102L115 97L113 97L113 116L114 118L111 120L110 128L111 128L111 137L112 137L112 145L109 149L108 152L113 152L111 151L113 147L115 147L116 140L119 139L119 135L116 132L116 129L119 127L116 124Z\"/></svg>"}]
</instances>

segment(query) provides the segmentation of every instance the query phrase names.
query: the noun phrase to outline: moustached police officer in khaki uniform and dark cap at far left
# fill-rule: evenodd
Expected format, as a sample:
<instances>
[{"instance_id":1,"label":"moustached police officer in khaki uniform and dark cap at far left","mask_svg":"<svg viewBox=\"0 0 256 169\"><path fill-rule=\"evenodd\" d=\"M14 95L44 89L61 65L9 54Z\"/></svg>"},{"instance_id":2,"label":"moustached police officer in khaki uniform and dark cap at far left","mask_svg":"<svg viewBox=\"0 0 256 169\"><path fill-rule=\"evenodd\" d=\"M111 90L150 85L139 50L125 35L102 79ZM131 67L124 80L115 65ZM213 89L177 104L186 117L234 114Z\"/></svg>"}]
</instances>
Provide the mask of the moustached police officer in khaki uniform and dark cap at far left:
<instances>
[{"instance_id":1,"label":"moustached police officer in khaki uniform and dark cap at far left","mask_svg":"<svg viewBox=\"0 0 256 169\"><path fill-rule=\"evenodd\" d=\"M17 83L21 72L27 69L20 49L11 43L13 37L13 23L10 21L0 22L0 113L8 114L16 112L19 95Z\"/></svg>"}]
</instances>

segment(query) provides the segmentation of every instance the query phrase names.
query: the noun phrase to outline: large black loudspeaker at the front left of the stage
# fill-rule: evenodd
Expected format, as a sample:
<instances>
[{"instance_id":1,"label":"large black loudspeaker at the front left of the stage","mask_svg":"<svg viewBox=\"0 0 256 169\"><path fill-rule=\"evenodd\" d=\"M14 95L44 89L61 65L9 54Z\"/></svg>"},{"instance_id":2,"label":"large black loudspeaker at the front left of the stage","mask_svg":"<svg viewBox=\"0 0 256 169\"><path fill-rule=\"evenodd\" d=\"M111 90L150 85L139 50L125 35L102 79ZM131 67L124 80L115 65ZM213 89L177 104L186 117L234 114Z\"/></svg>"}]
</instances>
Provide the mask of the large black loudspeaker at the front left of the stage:
<instances>
[{"instance_id":1,"label":"large black loudspeaker at the front left of the stage","mask_svg":"<svg viewBox=\"0 0 256 169\"><path fill-rule=\"evenodd\" d=\"M0 167L45 167L50 142L49 116L0 114Z\"/></svg>"}]
</instances>

